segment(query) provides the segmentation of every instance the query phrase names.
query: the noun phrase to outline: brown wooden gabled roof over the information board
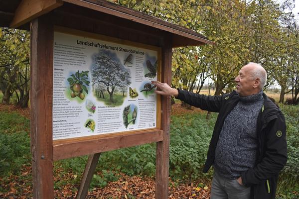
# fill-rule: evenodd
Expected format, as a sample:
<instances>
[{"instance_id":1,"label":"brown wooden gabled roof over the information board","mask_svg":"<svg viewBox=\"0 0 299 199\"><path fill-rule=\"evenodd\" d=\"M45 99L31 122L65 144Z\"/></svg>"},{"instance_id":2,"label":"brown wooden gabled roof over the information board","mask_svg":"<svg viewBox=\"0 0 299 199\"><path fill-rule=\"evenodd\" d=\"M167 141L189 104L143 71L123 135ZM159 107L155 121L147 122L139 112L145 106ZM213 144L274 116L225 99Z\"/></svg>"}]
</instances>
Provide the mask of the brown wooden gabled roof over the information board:
<instances>
[{"instance_id":1,"label":"brown wooden gabled roof over the information board","mask_svg":"<svg viewBox=\"0 0 299 199\"><path fill-rule=\"evenodd\" d=\"M29 29L29 21L68 2L172 34L172 46L215 44L191 29L106 0L0 0L0 26ZM75 11L74 11L75 12Z\"/></svg>"}]
</instances>

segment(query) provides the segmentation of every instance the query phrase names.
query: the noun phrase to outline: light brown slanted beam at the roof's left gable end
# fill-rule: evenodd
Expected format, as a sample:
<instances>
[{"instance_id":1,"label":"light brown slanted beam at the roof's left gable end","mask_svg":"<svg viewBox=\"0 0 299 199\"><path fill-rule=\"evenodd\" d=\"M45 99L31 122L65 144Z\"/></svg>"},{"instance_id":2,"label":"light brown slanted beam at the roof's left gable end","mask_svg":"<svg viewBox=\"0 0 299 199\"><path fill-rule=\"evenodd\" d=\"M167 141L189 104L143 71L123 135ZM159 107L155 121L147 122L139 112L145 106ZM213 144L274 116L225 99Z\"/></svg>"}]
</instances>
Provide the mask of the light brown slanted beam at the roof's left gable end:
<instances>
[{"instance_id":1,"label":"light brown slanted beam at the roof's left gable end","mask_svg":"<svg viewBox=\"0 0 299 199\"><path fill-rule=\"evenodd\" d=\"M11 28L17 28L32 19L41 16L63 4L61 0L22 0L14 12L10 23Z\"/></svg>"}]
</instances>

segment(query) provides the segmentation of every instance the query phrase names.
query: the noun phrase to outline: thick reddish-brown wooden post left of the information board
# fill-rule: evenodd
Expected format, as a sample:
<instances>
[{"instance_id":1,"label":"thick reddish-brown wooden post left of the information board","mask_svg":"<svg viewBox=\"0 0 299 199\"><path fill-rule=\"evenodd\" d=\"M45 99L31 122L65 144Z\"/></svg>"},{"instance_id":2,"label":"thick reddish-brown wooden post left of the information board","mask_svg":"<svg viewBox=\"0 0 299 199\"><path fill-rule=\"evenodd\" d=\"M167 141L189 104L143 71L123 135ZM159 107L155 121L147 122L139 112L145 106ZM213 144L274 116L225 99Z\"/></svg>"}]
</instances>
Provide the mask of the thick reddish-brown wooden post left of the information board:
<instances>
[{"instance_id":1,"label":"thick reddish-brown wooden post left of the information board","mask_svg":"<svg viewBox=\"0 0 299 199\"><path fill-rule=\"evenodd\" d=\"M53 25L47 16L30 23L30 132L34 199L53 199Z\"/></svg>"}]
</instances>

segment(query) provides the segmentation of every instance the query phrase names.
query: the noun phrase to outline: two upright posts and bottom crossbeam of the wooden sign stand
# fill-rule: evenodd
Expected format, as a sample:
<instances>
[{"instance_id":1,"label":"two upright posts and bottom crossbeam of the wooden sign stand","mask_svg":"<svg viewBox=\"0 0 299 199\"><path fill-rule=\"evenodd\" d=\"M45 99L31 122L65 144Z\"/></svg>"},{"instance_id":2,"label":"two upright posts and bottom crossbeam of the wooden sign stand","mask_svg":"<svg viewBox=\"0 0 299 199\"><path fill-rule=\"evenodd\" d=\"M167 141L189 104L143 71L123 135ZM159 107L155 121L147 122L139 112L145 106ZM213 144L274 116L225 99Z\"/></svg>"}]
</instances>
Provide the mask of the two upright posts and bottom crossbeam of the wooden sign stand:
<instances>
[{"instance_id":1,"label":"two upright posts and bottom crossbeam of the wooden sign stand","mask_svg":"<svg viewBox=\"0 0 299 199\"><path fill-rule=\"evenodd\" d=\"M53 33L51 15L45 15L31 22L31 152L33 169L33 198L54 198L53 161L84 154L96 154L117 148L157 142L156 190L157 199L167 198L170 98L161 98L161 128L143 132L126 132L121 135L104 136L95 140L86 139L80 143L52 141L52 88L53 88ZM171 40L168 35L167 40ZM169 44L168 44L169 45ZM171 75L171 47L162 47L162 81L169 83ZM167 61L163 59L168 59ZM165 71L165 69L168 70ZM49 75L50 74L50 75ZM49 105L50 104L50 105ZM37 114L38 113L38 114ZM168 123L166 123L168 122ZM46 124L46 125L39 125ZM166 131L165 131L166 130ZM164 133L166 132L166 134ZM103 147L96 148L99 143ZM114 145L115 143L119 143ZM121 144L122 143L122 144ZM95 146L96 150L80 149L82 145ZM71 149L71 150L69 150ZM75 149L75 150L74 150ZM73 151L70 152L70 151ZM65 155L67 154L67 155ZM93 164L94 166L94 164ZM167 176L167 177L166 177ZM166 178L165 178L166 177Z\"/></svg>"}]
</instances>

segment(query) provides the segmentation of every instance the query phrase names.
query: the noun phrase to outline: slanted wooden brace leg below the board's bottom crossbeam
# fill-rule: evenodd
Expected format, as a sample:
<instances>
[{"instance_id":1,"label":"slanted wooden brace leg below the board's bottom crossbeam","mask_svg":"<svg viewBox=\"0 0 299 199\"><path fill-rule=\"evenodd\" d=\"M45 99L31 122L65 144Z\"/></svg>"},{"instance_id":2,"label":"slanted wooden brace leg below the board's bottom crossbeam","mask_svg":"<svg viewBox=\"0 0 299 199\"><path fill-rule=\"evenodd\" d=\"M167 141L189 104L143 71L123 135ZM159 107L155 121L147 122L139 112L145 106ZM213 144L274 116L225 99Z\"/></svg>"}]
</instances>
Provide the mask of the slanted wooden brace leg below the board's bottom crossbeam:
<instances>
[{"instance_id":1,"label":"slanted wooden brace leg below the board's bottom crossbeam","mask_svg":"<svg viewBox=\"0 0 299 199\"><path fill-rule=\"evenodd\" d=\"M89 155L76 199L85 199L101 153Z\"/></svg>"}]
</instances>

